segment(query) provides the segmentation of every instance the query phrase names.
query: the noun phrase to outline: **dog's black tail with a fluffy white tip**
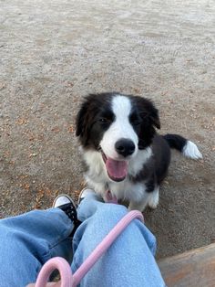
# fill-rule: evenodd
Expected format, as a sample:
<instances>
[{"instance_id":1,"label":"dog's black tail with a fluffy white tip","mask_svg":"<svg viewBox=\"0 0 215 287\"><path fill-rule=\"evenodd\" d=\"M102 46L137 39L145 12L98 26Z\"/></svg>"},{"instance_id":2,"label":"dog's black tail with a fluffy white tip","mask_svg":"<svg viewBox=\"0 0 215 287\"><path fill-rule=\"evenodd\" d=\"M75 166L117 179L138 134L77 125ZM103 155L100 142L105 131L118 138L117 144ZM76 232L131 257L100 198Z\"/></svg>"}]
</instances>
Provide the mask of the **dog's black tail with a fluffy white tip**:
<instances>
[{"instance_id":1,"label":"dog's black tail with a fluffy white tip","mask_svg":"<svg viewBox=\"0 0 215 287\"><path fill-rule=\"evenodd\" d=\"M193 159L202 158L197 145L179 134L168 133L163 135L163 138L169 143L171 148L178 150L181 154Z\"/></svg>"}]
</instances>

